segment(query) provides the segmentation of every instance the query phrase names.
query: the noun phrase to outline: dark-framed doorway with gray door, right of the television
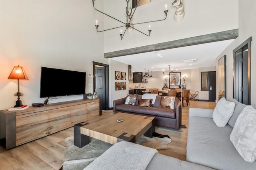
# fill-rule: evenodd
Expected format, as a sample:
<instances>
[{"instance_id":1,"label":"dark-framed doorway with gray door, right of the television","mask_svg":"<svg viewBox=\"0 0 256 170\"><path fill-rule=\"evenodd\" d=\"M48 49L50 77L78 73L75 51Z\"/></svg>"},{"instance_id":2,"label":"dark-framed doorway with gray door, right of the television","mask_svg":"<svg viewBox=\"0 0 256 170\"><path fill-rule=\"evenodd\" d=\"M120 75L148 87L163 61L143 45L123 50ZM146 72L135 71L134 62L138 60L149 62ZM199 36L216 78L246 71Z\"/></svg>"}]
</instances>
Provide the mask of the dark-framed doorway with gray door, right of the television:
<instances>
[{"instance_id":1,"label":"dark-framed doorway with gray door, right of the television","mask_svg":"<svg viewBox=\"0 0 256 170\"><path fill-rule=\"evenodd\" d=\"M109 110L109 65L93 63L93 90L98 92L102 110Z\"/></svg>"}]
</instances>

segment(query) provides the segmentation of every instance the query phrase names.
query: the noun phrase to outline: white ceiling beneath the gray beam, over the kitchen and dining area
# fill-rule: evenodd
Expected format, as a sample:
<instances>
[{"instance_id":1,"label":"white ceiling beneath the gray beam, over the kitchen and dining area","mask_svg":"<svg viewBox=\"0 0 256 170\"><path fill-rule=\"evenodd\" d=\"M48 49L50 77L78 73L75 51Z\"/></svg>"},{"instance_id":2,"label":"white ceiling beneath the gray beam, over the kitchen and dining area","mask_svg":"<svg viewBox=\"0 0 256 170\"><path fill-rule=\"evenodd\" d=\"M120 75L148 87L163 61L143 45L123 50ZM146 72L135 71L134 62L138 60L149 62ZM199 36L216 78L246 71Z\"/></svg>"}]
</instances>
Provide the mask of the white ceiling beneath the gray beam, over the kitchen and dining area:
<instances>
[{"instance_id":1,"label":"white ceiling beneath the gray beam, over the kitchen and dining area","mask_svg":"<svg viewBox=\"0 0 256 170\"><path fill-rule=\"evenodd\" d=\"M216 58L234 39L192 45L122 57L114 57L113 60L132 66L134 72L162 71L170 68L184 70L200 67L212 67L216 64ZM161 55L161 59L158 55ZM182 60L197 59L196 63L182 63Z\"/></svg>"}]
</instances>

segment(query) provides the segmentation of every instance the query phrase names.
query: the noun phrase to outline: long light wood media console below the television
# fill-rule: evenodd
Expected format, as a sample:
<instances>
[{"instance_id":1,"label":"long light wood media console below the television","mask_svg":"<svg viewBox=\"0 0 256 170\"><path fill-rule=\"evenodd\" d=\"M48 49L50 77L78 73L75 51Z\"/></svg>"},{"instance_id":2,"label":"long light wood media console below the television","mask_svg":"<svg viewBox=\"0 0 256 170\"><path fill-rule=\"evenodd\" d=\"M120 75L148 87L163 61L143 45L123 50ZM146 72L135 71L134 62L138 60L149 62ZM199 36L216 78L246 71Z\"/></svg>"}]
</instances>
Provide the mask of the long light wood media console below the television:
<instances>
[{"instance_id":1,"label":"long light wood media console below the television","mask_svg":"<svg viewBox=\"0 0 256 170\"><path fill-rule=\"evenodd\" d=\"M30 106L18 111L1 110L1 145L11 149L101 114L100 99Z\"/></svg>"}]
</instances>

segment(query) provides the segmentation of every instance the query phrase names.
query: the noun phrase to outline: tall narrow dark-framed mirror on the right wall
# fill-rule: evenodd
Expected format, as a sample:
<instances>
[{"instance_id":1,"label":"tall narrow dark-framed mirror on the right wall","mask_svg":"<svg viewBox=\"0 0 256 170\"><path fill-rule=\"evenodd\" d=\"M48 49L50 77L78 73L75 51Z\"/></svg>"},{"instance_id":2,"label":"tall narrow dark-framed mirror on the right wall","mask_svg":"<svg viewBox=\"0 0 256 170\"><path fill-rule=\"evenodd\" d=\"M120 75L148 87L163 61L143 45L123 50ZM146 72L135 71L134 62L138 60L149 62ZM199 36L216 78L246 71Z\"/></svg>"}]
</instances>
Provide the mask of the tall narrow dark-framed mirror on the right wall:
<instances>
[{"instance_id":1,"label":"tall narrow dark-framed mirror on the right wall","mask_svg":"<svg viewBox=\"0 0 256 170\"><path fill-rule=\"evenodd\" d=\"M218 60L218 90L219 100L226 98L226 55Z\"/></svg>"}]
</instances>

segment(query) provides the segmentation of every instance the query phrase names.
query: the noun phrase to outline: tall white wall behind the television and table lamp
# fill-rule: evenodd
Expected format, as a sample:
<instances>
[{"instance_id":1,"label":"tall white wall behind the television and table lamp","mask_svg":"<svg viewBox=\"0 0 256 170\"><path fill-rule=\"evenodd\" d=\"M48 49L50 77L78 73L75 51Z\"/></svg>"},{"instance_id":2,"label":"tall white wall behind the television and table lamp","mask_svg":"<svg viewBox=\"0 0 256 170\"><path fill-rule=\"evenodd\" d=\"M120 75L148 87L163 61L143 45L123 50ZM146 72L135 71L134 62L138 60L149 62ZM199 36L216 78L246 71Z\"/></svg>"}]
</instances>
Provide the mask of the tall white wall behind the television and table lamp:
<instances>
[{"instance_id":1,"label":"tall white wall behind the television and table lamp","mask_svg":"<svg viewBox=\"0 0 256 170\"><path fill-rule=\"evenodd\" d=\"M0 1L0 109L17 100L17 80L7 79L14 66L23 66L29 80L20 80L22 104L44 102L39 98L40 67L84 71L93 74L92 61L104 59L104 35L95 31L95 20L103 17L92 1L81 0L1 0ZM102 5L101 5L102 6ZM90 26L91 25L91 26ZM92 78L86 79L86 92ZM49 84L50 88L50 84ZM64 96L50 103L82 99Z\"/></svg>"}]
</instances>

